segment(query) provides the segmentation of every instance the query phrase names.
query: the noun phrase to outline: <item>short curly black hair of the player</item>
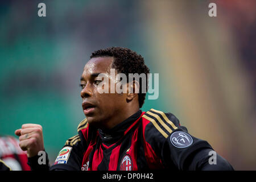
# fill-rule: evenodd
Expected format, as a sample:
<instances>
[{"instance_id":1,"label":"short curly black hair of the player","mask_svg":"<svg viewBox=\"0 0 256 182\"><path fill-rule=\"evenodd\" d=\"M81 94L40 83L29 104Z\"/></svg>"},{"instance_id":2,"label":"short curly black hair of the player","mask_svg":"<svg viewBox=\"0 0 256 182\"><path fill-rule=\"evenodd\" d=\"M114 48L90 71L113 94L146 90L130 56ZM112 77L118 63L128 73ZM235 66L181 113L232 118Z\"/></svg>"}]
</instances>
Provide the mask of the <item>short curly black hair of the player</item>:
<instances>
[{"instance_id":1,"label":"short curly black hair of the player","mask_svg":"<svg viewBox=\"0 0 256 182\"><path fill-rule=\"evenodd\" d=\"M117 69L118 73L124 73L127 76L127 80L129 73L138 73L139 75L141 75L141 73L146 74L146 91L148 90L147 74L150 73L150 69L144 63L144 58L141 55L135 51L131 51L129 48L110 47L92 52L90 58L105 56L114 57L112 67ZM139 108L141 108L146 98L146 93L142 93L141 79L139 85Z\"/></svg>"}]
</instances>

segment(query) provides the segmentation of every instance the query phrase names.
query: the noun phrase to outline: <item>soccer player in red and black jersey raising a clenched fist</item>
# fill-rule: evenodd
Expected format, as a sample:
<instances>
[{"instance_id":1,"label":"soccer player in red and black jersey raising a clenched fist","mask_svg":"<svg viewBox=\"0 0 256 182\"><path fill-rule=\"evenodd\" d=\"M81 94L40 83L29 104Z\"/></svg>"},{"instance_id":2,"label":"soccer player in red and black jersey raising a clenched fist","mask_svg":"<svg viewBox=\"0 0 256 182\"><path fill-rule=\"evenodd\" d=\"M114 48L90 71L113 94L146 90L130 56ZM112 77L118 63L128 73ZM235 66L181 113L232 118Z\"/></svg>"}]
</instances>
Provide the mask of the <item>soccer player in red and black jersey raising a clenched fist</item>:
<instances>
[{"instance_id":1,"label":"soccer player in red and black jersey raising a clenched fist","mask_svg":"<svg viewBox=\"0 0 256 182\"><path fill-rule=\"evenodd\" d=\"M82 109L86 118L77 127L49 167L39 165L37 155L44 150L42 126L25 124L15 131L20 147L27 150L32 169L50 170L233 170L210 144L193 137L174 114L156 109L142 111L146 93L142 80L127 81L127 92L100 93L102 77L110 82L115 74L149 73L141 55L127 48L94 51L81 75ZM111 90L108 81L103 85ZM116 81L116 80L115 80ZM147 80L146 80L147 83ZM117 84L115 82L114 84ZM131 92L134 90L137 92ZM211 155L215 159L210 161Z\"/></svg>"}]
</instances>

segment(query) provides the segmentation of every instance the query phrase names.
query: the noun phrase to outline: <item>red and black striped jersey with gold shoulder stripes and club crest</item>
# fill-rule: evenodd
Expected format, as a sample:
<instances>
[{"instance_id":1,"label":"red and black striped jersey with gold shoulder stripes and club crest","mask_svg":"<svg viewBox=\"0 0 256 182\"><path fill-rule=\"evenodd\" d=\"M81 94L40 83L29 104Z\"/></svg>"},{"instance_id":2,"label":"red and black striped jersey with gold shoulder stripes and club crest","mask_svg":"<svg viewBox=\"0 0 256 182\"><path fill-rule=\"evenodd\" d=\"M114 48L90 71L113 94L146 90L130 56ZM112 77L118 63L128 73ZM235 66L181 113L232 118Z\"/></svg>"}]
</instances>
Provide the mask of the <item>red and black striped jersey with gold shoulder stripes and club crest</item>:
<instances>
[{"instance_id":1,"label":"red and black striped jersey with gold shoulder stripes and club crest","mask_svg":"<svg viewBox=\"0 0 256 182\"><path fill-rule=\"evenodd\" d=\"M86 118L69 138L51 170L130 171L171 168L196 169L197 151L212 147L193 137L174 114L139 110L110 130L96 129Z\"/></svg>"}]
</instances>

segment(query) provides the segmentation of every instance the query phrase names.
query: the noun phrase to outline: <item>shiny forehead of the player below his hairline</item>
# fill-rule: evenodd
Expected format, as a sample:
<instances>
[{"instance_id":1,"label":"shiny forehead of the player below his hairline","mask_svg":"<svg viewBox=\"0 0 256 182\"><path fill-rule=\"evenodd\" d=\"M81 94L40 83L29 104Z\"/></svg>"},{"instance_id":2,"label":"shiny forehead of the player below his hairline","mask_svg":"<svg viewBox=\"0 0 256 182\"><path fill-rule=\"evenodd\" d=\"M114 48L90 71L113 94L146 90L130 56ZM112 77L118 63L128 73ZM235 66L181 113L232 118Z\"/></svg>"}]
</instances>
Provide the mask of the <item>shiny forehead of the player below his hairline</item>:
<instances>
[{"instance_id":1,"label":"shiny forehead of the player below his hairline","mask_svg":"<svg viewBox=\"0 0 256 182\"><path fill-rule=\"evenodd\" d=\"M93 57L85 64L82 77L92 75L93 73L109 72L113 60L113 57Z\"/></svg>"}]
</instances>

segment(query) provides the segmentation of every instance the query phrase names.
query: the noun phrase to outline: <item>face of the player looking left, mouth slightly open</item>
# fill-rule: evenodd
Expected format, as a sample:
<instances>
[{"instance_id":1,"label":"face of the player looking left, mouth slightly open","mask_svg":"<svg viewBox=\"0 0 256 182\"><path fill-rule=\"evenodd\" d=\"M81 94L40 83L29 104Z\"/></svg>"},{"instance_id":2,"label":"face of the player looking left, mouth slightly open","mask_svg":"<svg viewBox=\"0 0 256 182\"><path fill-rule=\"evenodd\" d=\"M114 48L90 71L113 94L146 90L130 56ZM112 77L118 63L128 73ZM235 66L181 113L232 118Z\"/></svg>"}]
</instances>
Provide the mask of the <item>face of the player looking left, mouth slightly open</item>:
<instances>
[{"instance_id":1,"label":"face of the player looking left, mouth slightly open","mask_svg":"<svg viewBox=\"0 0 256 182\"><path fill-rule=\"evenodd\" d=\"M94 57L85 64L81 76L84 114L90 125L99 128L108 128L109 122L118 117L126 106L126 94L99 93L97 90L102 82L102 78L98 77L100 73L104 73L111 79L112 63L113 57Z\"/></svg>"}]
</instances>

